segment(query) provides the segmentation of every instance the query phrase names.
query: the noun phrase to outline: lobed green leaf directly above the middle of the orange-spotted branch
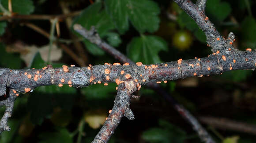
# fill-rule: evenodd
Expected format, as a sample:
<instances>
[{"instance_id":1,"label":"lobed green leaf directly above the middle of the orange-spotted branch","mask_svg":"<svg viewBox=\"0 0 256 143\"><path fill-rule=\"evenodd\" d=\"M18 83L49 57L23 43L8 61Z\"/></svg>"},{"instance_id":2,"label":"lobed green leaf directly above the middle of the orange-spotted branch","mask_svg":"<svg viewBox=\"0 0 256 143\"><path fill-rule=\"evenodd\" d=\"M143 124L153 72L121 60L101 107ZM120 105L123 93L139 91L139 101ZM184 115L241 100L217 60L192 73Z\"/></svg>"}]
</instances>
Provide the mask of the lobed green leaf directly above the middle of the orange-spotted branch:
<instances>
[{"instance_id":1,"label":"lobed green leaf directly above the middle of the orange-spotted branch","mask_svg":"<svg viewBox=\"0 0 256 143\"><path fill-rule=\"evenodd\" d=\"M144 64L161 63L158 52L167 51L167 43L158 36L135 37L127 46L128 57Z\"/></svg>"}]
</instances>

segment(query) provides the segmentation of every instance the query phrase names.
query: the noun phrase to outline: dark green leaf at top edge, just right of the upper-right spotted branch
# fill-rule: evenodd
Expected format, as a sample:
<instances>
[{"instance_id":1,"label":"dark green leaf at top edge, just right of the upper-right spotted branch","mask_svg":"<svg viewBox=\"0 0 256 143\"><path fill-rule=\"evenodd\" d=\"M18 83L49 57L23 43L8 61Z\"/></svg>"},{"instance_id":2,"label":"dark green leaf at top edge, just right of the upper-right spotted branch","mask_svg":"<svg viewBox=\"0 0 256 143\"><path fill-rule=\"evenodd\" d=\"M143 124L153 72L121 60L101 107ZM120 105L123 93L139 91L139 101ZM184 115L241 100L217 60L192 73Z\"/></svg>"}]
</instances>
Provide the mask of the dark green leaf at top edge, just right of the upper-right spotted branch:
<instances>
[{"instance_id":1,"label":"dark green leaf at top edge, just right of the upper-right spotted branch","mask_svg":"<svg viewBox=\"0 0 256 143\"><path fill-rule=\"evenodd\" d=\"M223 21L231 13L230 4L220 0L207 0L206 14L210 19Z\"/></svg>"}]
</instances>

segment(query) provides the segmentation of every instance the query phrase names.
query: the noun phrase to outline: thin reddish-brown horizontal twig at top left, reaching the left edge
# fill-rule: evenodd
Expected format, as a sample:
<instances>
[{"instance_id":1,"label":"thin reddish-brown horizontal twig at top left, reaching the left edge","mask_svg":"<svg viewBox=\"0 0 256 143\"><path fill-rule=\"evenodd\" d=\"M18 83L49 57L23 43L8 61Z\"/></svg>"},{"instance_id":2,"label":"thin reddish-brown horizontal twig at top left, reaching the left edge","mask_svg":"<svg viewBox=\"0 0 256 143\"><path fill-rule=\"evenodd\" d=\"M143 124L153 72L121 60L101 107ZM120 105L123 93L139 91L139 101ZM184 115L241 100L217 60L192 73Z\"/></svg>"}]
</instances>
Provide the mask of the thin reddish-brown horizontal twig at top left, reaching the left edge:
<instances>
[{"instance_id":1,"label":"thin reddish-brown horizontal twig at top left, reaching the left edge","mask_svg":"<svg viewBox=\"0 0 256 143\"><path fill-rule=\"evenodd\" d=\"M4 13L10 13L9 11L3 9L4 7L0 4L0 9L4 11ZM0 17L0 21L5 21L8 19L23 19L23 20L50 20L57 18L59 20L68 18L68 17L75 17L79 15L82 11L74 11L69 14L59 14L59 15L38 15L38 14L31 14L31 15L19 15L19 14L13 14L11 15L4 15Z\"/></svg>"}]
</instances>

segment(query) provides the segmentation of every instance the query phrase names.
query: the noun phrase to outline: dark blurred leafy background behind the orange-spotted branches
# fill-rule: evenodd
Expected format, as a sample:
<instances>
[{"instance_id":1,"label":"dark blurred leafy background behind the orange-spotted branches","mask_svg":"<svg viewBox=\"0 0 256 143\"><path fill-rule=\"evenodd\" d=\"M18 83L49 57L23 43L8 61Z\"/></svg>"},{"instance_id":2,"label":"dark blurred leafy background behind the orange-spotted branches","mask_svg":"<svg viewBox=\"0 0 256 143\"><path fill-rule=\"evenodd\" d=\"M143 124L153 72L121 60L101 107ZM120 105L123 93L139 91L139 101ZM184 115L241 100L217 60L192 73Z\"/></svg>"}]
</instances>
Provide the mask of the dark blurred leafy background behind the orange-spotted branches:
<instances>
[{"instance_id":1,"label":"dark blurred leafy background behind the orange-spotted branches","mask_svg":"<svg viewBox=\"0 0 256 143\"><path fill-rule=\"evenodd\" d=\"M94 1L94 3L90 3ZM195 2L196 0L194 0ZM60 5L64 2L64 6ZM133 61L144 64L207 57L211 49L206 36L172 0L0 0L2 15L10 14L62 14L62 11L82 11L70 20L60 19L58 42L66 44L77 56L86 53L85 63L104 64L117 60L97 45L90 43L67 25L80 24L86 29L94 26L99 36ZM239 50L255 49L256 10L253 0L207 0L206 14L219 32L227 37L234 32L234 46ZM1 17L1 16L0 16ZM0 21L0 67L54 68L76 64L70 53L59 54L59 61L47 63L48 55L31 48L49 45L49 39L38 31L24 26L37 25L46 32L50 22L41 20L9 19ZM181 35L182 34L186 34ZM82 41L84 49L77 47L72 34ZM68 41L68 42L67 42ZM32 46L31 46L32 45ZM59 49L60 45L57 45ZM49 46L48 46L49 47ZM66 51L65 51L66 52ZM33 54L32 54L33 53ZM23 61L30 57L30 61ZM27 64L29 63L29 64ZM26 67L30 66L30 67ZM189 80L168 81L160 84L174 99L192 114L237 119L256 124L255 72L230 71L222 75ZM186 82L186 83L184 83ZM20 95L15 102L14 114L8 125L10 132L0 135L0 143L90 143L113 106L116 84L95 84L75 89L41 86L34 92ZM131 100L136 119L123 119L109 143L198 143L200 139L173 110L172 105L152 89L143 87ZM0 115L4 113L0 108ZM165 120L163 120L163 118ZM217 143L255 143L254 136L241 132L211 132ZM219 137L219 135L224 137Z\"/></svg>"}]
</instances>

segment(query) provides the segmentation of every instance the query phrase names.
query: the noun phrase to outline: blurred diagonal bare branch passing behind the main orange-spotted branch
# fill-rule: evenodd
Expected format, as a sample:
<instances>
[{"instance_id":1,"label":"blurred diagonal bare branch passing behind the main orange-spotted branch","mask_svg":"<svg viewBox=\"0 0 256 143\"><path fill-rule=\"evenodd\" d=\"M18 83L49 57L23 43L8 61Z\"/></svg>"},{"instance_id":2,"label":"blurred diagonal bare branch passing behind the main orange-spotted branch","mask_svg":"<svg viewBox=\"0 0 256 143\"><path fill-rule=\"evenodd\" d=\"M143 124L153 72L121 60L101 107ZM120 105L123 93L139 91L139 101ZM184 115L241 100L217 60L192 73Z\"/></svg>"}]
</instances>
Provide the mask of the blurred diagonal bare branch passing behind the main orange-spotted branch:
<instances>
[{"instance_id":1,"label":"blurred diagonal bare branch passing behind the main orange-spotted branch","mask_svg":"<svg viewBox=\"0 0 256 143\"><path fill-rule=\"evenodd\" d=\"M88 39L91 43L98 45L98 47L102 48L110 55L115 57L117 60L125 63L128 62L130 64L135 64L132 60L126 57L124 54L120 53L118 50L110 46L108 43L105 43L100 39L98 34L96 33L94 27L91 28L90 31L84 29L81 25L74 25L74 29L76 32L81 34L83 37ZM99 42L101 41L101 42ZM154 89L158 94L162 95L166 100L168 100L174 107L174 109L188 122L192 125L192 128L197 132L200 136L200 139L205 143L215 143L215 141L211 138L206 129L203 128L202 125L196 120L196 118L189 113L187 109L185 109L182 105L178 104L164 89L161 88L158 84L149 83L147 84L151 89Z\"/></svg>"}]
</instances>

